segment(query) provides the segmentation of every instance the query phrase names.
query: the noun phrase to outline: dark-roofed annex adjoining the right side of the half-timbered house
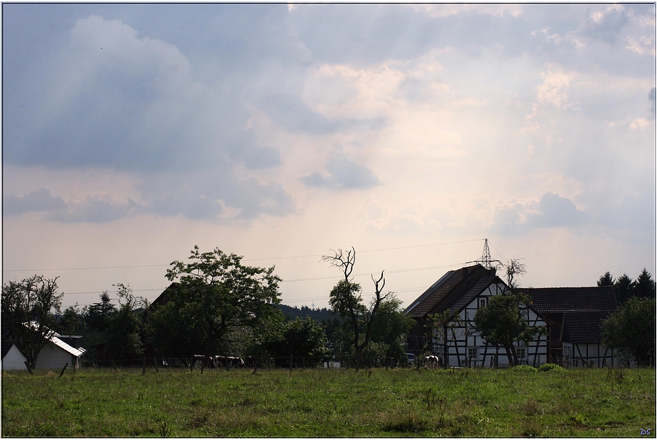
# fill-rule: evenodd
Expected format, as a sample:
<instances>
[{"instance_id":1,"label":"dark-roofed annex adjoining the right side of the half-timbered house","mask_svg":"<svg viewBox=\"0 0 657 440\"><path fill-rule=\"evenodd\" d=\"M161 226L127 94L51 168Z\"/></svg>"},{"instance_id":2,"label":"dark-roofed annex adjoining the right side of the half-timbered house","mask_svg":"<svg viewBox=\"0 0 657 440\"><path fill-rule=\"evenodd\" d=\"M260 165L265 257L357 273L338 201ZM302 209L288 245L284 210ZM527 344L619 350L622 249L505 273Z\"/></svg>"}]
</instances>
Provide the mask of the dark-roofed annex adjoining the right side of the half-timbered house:
<instances>
[{"instance_id":1,"label":"dark-roofed annex adjoining the right side of the half-timbered house","mask_svg":"<svg viewBox=\"0 0 657 440\"><path fill-rule=\"evenodd\" d=\"M602 321L617 308L613 287L542 287L522 292L548 321L550 362L569 367L617 364L614 352L602 345Z\"/></svg>"}]
</instances>

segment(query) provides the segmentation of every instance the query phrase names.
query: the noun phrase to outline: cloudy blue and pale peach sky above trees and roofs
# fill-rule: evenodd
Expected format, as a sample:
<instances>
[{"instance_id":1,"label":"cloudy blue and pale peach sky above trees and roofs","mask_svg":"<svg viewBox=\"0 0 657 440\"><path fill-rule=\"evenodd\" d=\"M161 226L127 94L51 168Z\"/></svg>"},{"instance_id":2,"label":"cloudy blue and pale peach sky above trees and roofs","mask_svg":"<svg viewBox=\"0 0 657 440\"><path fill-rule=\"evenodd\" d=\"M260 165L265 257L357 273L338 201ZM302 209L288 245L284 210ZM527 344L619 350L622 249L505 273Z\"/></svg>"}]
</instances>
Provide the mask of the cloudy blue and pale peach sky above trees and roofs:
<instances>
[{"instance_id":1,"label":"cloudy blue and pale peach sky above trees and roofs","mask_svg":"<svg viewBox=\"0 0 657 440\"><path fill-rule=\"evenodd\" d=\"M655 4L2 5L3 283L155 299L195 245L327 307L655 275ZM501 270L499 271L501 275Z\"/></svg>"}]
</instances>

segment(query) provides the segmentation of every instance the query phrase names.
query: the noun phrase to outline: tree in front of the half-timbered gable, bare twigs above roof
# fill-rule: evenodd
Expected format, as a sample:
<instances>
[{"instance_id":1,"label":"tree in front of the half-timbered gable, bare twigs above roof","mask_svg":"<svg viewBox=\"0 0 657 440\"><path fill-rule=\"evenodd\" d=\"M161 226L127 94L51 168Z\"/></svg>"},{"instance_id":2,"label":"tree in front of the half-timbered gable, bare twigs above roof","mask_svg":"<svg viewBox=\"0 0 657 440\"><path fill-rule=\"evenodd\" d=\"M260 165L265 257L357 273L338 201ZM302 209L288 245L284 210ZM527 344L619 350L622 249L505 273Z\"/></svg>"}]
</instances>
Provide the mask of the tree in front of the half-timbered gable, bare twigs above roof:
<instances>
[{"instance_id":1,"label":"tree in front of the half-timbered gable, bare twigs above roof","mask_svg":"<svg viewBox=\"0 0 657 440\"><path fill-rule=\"evenodd\" d=\"M526 266L518 260L509 260L505 265L508 289L492 297L486 307L474 315L474 327L486 343L502 346L509 358L509 365L518 365L515 344L528 346L545 329L529 325L527 306L531 304L528 295L518 291L516 276L526 272Z\"/></svg>"}]
</instances>

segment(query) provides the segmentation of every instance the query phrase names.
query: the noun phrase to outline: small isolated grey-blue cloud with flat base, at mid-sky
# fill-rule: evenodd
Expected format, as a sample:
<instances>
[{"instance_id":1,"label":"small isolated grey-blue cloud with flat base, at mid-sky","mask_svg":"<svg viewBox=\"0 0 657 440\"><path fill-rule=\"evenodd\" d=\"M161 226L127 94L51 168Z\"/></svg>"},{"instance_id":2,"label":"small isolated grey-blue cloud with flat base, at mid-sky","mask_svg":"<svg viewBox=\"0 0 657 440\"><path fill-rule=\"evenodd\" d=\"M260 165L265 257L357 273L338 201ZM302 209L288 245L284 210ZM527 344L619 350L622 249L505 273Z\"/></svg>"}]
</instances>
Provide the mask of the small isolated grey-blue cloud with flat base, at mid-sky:
<instances>
[{"instance_id":1,"label":"small isolated grey-blue cloud with flat base, at mid-sky","mask_svg":"<svg viewBox=\"0 0 657 440\"><path fill-rule=\"evenodd\" d=\"M326 165L329 175L325 176L319 172L301 177L301 181L309 187L320 187L327 189L367 189L380 185L371 170L358 165L342 156L332 158Z\"/></svg>"}]
</instances>

